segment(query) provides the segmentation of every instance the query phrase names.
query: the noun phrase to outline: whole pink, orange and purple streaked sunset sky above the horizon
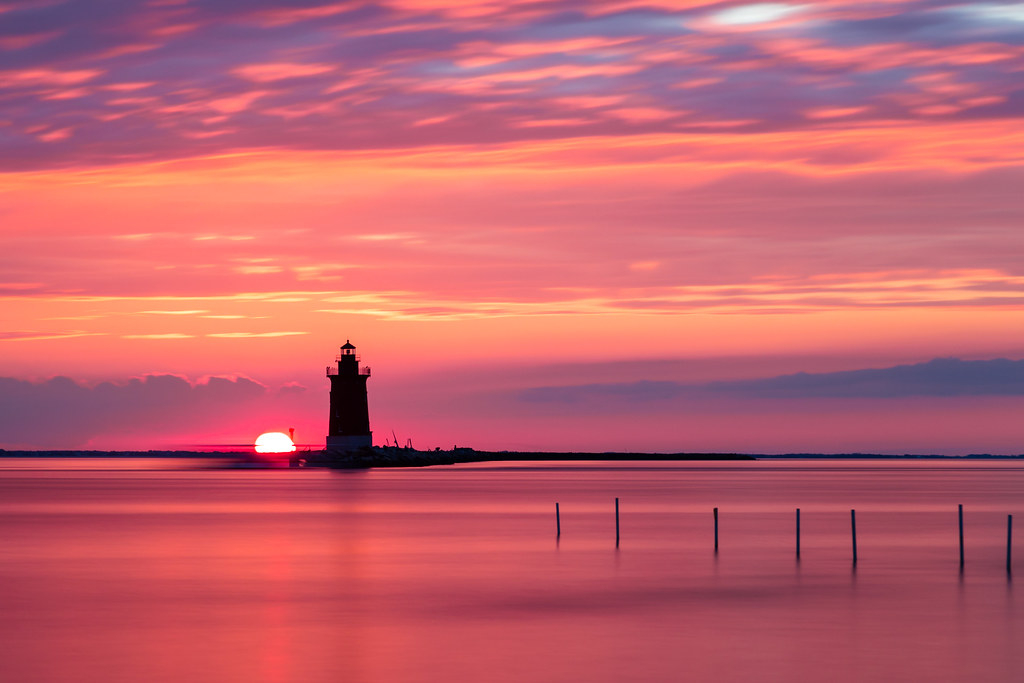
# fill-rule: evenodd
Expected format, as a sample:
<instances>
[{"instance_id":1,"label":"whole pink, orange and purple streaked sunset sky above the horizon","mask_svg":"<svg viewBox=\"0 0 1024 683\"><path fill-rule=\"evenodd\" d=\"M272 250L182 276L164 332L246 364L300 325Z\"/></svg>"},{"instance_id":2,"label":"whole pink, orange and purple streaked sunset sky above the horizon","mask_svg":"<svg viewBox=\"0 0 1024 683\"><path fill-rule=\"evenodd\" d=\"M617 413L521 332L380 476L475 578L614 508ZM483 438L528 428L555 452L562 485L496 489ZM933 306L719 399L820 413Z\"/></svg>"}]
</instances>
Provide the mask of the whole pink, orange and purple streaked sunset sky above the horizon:
<instances>
[{"instance_id":1,"label":"whole pink, orange and purple streaked sunset sky above the horizon","mask_svg":"<svg viewBox=\"0 0 1024 683\"><path fill-rule=\"evenodd\" d=\"M0 447L1024 453L1024 3L0 0Z\"/></svg>"}]
</instances>

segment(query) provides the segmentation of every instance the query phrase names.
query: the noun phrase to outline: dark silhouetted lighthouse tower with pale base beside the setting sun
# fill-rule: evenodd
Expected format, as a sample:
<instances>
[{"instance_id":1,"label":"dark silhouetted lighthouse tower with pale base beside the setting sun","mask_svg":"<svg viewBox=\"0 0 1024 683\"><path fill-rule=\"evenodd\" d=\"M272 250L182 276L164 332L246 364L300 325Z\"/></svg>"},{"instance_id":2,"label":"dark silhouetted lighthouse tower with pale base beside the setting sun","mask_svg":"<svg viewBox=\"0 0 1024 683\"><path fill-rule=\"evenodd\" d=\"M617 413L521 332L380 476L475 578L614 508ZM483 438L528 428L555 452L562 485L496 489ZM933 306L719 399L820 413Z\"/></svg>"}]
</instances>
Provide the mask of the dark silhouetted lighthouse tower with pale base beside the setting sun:
<instances>
[{"instance_id":1,"label":"dark silhouetted lighthouse tower with pale base beside the setting sun","mask_svg":"<svg viewBox=\"0 0 1024 683\"><path fill-rule=\"evenodd\" d=\"M331 380L331 421L327 433L328 451L354 451L373 445L370 411L367 408L367 380L370 369L359 368L359 356L348 340L338 354L338 368L328 366Z\"/></svg>"}]
</instances>

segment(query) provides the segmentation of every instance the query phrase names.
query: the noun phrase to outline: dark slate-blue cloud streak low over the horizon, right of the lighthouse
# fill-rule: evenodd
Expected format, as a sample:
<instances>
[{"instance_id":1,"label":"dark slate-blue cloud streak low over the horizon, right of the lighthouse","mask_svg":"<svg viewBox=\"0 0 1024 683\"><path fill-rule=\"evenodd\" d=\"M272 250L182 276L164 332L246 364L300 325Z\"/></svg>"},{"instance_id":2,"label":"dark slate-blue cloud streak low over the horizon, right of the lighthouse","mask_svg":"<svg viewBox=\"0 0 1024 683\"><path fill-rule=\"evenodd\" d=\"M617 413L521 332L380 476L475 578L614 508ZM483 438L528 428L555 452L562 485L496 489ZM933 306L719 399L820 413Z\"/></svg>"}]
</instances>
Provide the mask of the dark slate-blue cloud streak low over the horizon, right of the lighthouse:
<instances>
[{"instance_id":1,"label":"dark slate-blue cloud streak low over the horizon, right of the lighthouse","mask_svg":"<svg viewBox=\"0 0 1024 683\"><path fill-rule=\"evenodd\" d=\"M672 400L782 398L909 398L1024 396L1024 360L936 358L893 368L796 373L767 379L685 384L640 381L534 387L520 398L534 403L620 403L642 408Z\"/></svg>"}]
</instances>

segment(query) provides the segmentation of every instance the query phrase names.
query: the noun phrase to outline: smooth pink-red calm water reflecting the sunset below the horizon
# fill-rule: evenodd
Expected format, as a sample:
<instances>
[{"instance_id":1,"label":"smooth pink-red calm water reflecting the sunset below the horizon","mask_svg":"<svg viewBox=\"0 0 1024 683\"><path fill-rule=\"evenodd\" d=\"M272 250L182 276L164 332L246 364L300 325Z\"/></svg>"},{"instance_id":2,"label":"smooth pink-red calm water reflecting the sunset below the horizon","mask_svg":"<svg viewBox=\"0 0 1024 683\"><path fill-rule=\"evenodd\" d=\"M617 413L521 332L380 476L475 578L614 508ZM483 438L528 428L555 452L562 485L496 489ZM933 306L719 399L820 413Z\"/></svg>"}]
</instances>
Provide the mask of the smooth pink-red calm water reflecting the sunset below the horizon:
<instances>
[{"instance_id":1,"label":"smooth pink-red calm water reflecting the sunset below the horizon","mask_svg":"<svg viewBox=\"0 0 1024 683\"><path fill-rule=\"evenodd\" d=\"M17 465L3 681L1024 680L1024 463Z\"/></svg>"}]
</instances>

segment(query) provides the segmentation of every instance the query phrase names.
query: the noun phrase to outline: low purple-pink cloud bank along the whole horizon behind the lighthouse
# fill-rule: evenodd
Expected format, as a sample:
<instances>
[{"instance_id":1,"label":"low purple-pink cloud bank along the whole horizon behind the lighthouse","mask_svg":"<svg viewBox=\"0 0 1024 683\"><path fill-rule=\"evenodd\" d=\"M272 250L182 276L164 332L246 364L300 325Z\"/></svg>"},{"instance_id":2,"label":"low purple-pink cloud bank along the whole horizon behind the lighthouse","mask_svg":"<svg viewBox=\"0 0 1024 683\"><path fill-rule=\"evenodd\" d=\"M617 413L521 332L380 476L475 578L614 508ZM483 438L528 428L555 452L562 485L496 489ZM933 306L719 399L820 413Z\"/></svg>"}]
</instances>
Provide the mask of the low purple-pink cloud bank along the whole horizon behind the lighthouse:
<instances>
[{"instance_id":1,"label":"low purple-pink cloud bank along the whole horizon behind the lighthouse","mask_svg":"<svg viewBox=\"0 0 1024 683\"><path fill-rule=\"evenodd\" d=\"M665 372L674 372L670 366ZM617 376L635 375L644 367ZM644 374L655 375L658 367L646 366ZM938 358L883 369L690 383L584 383L615 368L596 364L567 370L581 383L530 386L549 371L519 377L521 368L509 369L504 381L481 382L469 372L419 381L375 376L371 426L378 441L395 430L421 447L1019 451L1014 417L1024 405L1024 360ZM152 375L96 385L67 377L39 382L2 378L0 447L246 445L262 431L291 426L300 442L318 447L327 400L326 389L269 389L246 378L189 382Z\"/></svg>"}]
</instances>

